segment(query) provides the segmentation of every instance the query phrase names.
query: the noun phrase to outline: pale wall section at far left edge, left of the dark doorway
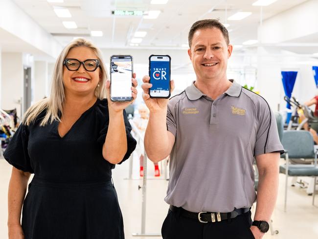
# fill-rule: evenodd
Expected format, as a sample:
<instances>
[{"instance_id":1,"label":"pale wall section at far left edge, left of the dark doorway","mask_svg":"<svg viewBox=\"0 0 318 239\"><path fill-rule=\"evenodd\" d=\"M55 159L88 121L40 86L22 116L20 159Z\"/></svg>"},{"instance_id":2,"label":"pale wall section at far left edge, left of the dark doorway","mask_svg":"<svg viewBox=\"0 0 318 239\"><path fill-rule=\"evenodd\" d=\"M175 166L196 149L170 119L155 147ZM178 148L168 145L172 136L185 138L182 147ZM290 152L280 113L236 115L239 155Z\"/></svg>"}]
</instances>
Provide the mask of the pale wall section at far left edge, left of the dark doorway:
<instances>
[{"instance_id":1,"label":"pale wall section at far left edge, left of the dark doorway","mask_svg":"<svg viewBox=\"0 0 318 239\"><path fill-rule=\"evenodd\" d=\"M17 108L21 118L21 98L23 97L23 54L1 54L1 107L4 110Z\"/></svg>"}]
</instances>

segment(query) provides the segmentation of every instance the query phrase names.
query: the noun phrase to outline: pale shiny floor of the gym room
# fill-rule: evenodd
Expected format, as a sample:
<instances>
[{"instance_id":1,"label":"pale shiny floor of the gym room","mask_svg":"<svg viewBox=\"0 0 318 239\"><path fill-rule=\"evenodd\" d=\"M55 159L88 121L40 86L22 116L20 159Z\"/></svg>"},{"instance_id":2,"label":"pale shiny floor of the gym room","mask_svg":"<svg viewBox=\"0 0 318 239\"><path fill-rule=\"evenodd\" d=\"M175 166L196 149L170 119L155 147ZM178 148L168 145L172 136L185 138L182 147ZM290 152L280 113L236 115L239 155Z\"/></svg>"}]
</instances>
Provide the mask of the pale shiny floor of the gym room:
<instances>
[{"instance_id":1,"label":"pale shiny floor of the gym room","mask_svg":"<svg viewBox=\"0 0 318 239\"><path fill-rule=\"evenodd\" d=\"M116 166L113 170L114 185L118 193L119 204L124 217L126 239L160 239L161 237L136 237L133 233L141 233L141 206L143 181L138 175L138 159L136 155L132 161L132 175L129 176L129 162ZM164 163L161 176L155 178L154 167L148 160L146 185L146 217L145 234L160 234L161 224L168 211L168 205L163 201L168 181L165 180ZM11 166L0 159L0 239L7 238L7 188L10 179ZM290 179L291 180L291 179ZM279 194L272 216L273 228L277 235L270 232L264 239L317 239L318 238L318 196L316 206L312 206L312 196L308 196L305 189L299 187L288 188L287 213L283 211L284 175L280 175ZM252 210L255 209L255 206Z\"/></svg>"}]
</instances>

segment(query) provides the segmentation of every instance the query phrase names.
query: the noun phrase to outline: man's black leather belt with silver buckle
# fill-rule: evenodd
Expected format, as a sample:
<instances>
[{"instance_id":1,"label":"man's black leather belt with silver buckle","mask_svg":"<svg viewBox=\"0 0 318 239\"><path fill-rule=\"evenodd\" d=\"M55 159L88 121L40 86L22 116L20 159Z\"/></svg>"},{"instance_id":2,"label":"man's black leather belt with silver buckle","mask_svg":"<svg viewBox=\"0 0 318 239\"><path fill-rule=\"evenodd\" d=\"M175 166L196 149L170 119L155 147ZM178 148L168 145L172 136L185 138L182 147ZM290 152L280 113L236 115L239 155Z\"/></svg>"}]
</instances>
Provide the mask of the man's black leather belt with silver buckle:
<instances>
[{"instance_id":1,"label":"man's black leather belt with silver buckle","mask_svg":"<svg viewBox=\"0 0 318 239\"><path fill-rule=\"evenodd\" d=\"M250 211L250 208L239 208L229 213L209 213L209 212L193 213L183 208L175 207L173 205L170 205L169 209L172 212L178 212L180 210L180 215L199 220L202 223L228 220L229 218L235 218L238 215L241 215Z\"/></svg>"}]
</instances>

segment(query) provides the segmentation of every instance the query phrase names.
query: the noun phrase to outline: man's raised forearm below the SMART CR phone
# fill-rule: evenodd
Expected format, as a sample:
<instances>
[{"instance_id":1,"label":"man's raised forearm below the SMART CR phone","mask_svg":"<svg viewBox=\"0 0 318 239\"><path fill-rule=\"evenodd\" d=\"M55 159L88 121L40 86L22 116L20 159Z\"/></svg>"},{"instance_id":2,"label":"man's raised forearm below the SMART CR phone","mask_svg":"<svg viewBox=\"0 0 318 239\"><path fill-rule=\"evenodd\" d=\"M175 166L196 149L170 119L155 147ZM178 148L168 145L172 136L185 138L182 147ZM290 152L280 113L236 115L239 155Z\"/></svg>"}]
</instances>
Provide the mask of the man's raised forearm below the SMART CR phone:
<instances>
[{"instance_id":1,"label":"man's raised forearm below the SMART CR phone","mask_svg":"<svg viewBox=\"0 0 318 239\"><path fill-rule=\"evenodd\" d=\"M147 156L153 162L159 162L170 153L166 117L166 109L150 112L149 115L144 143Z\"/></svg>"}]
</instances>

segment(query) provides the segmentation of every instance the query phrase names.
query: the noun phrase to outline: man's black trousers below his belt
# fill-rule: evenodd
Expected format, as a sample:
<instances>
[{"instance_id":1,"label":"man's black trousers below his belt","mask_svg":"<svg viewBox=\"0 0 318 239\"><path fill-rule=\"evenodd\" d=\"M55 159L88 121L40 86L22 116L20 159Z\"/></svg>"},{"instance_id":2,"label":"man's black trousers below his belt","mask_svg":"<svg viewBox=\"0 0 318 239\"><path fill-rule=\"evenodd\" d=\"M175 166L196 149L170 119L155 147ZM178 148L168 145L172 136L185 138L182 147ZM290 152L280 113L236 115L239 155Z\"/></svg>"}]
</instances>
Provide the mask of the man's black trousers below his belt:
<instances>
[{"instance_id":1,"label":"man's black trousers below his belt","mask_svg":"<svg viewBox=\"0 0 318 239\"><path fill-rule=\"evenodd\" d=\"M161 235L163 239L254 239L251 225L250 211L230 221L201 223L169 210Z\"/></svg>"}]
</instances>

